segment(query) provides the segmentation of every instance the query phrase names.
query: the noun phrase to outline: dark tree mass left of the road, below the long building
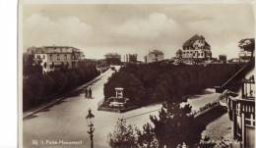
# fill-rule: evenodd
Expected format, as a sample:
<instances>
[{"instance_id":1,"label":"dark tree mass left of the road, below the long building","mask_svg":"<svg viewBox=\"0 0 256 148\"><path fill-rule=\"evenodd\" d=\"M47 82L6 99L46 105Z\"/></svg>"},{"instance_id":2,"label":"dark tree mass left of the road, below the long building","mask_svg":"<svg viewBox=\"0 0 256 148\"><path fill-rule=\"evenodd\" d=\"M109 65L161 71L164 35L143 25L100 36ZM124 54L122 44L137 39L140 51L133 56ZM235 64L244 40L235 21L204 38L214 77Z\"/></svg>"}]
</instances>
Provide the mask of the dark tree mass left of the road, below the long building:
<instances>
[{"instance_id":1,"label":"dark tree mass left of the road, below the long building","mask_svg":"<svg viewBox=\"0 0 256 148\"><path fill-rule=\"evenodd\" d=\"M67 93L75 87L95 78L94 63L81 62L77 68L65 69L42 74L38 65L25 64L23 78L24 111Z\"/></svg>"}]
</instances>

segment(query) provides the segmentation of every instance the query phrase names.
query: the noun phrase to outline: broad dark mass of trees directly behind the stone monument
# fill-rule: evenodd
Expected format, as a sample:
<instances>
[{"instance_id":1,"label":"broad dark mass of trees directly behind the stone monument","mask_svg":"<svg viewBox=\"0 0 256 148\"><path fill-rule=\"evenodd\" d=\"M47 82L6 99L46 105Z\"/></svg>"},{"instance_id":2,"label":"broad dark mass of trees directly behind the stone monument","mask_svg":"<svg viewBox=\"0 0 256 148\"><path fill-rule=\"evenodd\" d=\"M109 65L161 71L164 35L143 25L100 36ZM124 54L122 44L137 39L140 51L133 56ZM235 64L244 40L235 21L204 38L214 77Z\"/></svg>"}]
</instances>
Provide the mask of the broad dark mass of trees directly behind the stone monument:
<instances>
[{"instance_id":1,"label":"broad dark mass of trees directly behind the stone monument","mask_svg":"<svg viewBox=\"0 0 256 148\"><path fill-rule=\"evenodd\" d=\"M112 74L104 84L104 96L114 96L114 88L123 87L124 96L138 105L162 100L180 102L184 95L222 85L242 66L243 64L176 66L161 62L131 64Z\"/></svg>"}]
</instances>

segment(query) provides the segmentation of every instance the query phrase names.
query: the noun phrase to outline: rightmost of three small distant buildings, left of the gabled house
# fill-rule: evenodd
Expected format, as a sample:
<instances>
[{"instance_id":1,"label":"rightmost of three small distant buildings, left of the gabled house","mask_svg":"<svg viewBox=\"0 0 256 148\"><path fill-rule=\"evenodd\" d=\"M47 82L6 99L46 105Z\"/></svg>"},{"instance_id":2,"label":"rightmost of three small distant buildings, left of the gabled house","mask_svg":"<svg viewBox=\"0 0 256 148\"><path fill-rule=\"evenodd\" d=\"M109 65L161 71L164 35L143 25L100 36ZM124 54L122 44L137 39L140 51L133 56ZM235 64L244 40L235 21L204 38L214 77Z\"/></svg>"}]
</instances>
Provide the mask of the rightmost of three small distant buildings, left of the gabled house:
<instances>
[{"instance_id":1,"label":"rightmost of three small distant buildings, left of the gabled house","mask_svg":"<svg viewBox=\"0 0 256 148\"><path fill-rule=\"evenodd\" d=\"M147 56L144 57L145 63L153 63L164 60L164 55L160 50L150 51Z\"/></svg>"}]
</instances>

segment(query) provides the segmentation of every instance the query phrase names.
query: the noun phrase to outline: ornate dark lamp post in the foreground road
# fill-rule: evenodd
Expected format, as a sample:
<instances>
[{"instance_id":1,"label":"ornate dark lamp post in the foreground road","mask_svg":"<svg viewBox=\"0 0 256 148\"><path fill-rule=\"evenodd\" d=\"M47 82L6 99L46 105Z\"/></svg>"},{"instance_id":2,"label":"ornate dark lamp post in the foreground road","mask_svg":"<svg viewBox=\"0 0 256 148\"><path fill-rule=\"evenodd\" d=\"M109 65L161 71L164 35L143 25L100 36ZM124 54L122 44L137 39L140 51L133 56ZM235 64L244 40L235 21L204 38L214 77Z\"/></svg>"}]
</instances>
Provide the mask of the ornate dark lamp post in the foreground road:
<instances>
[{"instance_id":1,"label":"ornate dark lamp post in the foreground road","mask_svg":"<svg viewBox=\"0 0 256 148\"><path fill-rule=\"evenodd\" d=\"M86 119L87 119L88 126L90 127L87 132L90 135L91 148L94 148L94 131L95 131L94 118L95 118L95 116L92 114L92 110L89 109Z\"/></svg>"}]
</instances>

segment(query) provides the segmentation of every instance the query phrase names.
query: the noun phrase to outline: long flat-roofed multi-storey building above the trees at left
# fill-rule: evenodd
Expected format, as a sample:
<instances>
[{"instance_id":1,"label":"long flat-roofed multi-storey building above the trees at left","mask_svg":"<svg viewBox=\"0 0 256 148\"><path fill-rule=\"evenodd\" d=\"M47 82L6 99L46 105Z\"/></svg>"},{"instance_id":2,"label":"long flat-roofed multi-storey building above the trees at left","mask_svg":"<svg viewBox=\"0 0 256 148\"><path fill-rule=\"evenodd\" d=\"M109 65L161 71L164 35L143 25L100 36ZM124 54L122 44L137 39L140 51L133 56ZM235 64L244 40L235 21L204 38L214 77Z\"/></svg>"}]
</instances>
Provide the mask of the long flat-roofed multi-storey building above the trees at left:
<instances>
[{"instance_id":1,"label":"long flat-roofed multi-storey building above the trees at left","mask_svg":"<svg viewBox=\"0 0 256 148\"><path fill-rule=\"evenodd\" d=\"M47 73L60 68L75 68L84 57L80 49L69 46L32 47L28 53L33 55L34 63L42 66L42 72Z\"/></svg>"}]
</instances>

